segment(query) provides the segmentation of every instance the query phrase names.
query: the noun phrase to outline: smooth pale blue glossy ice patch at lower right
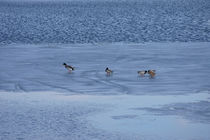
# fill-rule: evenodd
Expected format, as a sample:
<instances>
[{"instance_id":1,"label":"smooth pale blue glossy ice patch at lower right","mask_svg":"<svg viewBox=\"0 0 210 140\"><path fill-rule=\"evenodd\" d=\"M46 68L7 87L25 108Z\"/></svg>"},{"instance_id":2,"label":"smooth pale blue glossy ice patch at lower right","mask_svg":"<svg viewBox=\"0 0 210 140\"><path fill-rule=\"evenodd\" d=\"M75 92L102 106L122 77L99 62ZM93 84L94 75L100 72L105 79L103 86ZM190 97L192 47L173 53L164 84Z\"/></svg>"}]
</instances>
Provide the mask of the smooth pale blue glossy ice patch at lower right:
<instances>
[{"instance_id":1,"label":"smooth pale blue glossy ice patch at lower right","mask_svg":"<svg viewBox=\"0 0 210 140\"><path fill-rule=\"evenodd\" d=\"M208 140L209 97L208 91L176 96L111 96L98 101L111 104L109 110L88 118L97 128L148 139L150 135L162 140Z\"/></svg>"}]
</instances>

